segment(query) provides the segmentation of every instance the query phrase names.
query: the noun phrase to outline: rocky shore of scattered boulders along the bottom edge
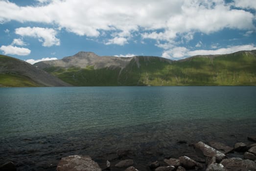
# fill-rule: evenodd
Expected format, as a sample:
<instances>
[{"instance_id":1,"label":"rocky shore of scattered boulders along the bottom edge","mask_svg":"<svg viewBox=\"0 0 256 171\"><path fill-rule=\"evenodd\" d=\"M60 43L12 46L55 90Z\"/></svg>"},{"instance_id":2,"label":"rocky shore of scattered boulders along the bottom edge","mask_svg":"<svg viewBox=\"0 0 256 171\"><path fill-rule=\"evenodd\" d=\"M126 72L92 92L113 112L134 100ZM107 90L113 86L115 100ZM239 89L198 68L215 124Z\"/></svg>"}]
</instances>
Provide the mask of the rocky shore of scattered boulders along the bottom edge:
<instances>
[{"instance_id":1,"label":"rocky shore of scattered boulders along the bottom edge","mask_svg":"<svg viewBox=\"0 0 256 171\"><path fill-rule=\"evenodd\" d=\"M179 144L193 147L194 154L181 154L178 158L166 156L161 161L148 161L145 166L129 157L129 151L119 152L117 157L109 156L105 162L99 163L90 156L70 155L61 158L56 171L139 171L136 168L147 171L256 171L256 136L249 136L248 140L251 143L237 142L233 147L216 141L194 144L179 141ZM0 171L17 169L10 161L1 165Z\"/></svg>"}]
</instances>

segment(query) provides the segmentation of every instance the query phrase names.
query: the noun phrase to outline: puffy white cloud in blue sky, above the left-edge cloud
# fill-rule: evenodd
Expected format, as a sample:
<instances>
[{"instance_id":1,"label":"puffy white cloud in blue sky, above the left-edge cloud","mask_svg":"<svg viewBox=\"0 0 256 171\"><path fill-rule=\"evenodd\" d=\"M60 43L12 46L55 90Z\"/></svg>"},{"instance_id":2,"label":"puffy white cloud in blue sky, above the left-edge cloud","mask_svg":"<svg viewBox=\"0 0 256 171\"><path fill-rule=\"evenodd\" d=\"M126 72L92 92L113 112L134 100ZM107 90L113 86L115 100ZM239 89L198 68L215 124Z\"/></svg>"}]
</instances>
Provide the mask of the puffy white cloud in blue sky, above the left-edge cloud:
<instances>
[{"instance_id":1,"label":"puffy white cloud in blue sky, above the left-edge cloud","mask_svg":"<svg viewBox=\"0 0 256 171\"><path fill-rule=\"evenodd\" d=\"M60 45L60 40L55 37L57 32L52 28L20 27L15 29L15 33L23 37L38 38L39 42L43 42L43 46Z\"/></svg>"}]
</instances>

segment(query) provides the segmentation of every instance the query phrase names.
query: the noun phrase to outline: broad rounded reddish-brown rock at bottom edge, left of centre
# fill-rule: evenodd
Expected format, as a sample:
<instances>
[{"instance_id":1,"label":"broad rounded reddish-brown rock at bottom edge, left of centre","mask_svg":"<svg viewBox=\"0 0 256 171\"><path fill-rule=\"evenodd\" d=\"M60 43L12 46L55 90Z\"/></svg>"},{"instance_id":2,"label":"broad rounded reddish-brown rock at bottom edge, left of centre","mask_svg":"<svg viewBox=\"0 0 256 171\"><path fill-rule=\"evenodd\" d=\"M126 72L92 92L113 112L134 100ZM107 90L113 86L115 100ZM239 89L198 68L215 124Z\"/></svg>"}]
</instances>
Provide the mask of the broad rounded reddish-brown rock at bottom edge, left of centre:
<instances>
[{"instance_id":1,"label":"broad rounded reddish-brown rock at bottom edge, left of centre","mask_svg":"<svg viewBox=\"0 0 256 171\"><path fill-rule=\"evenodd\" d=\"M90 156L70 155L61 158L57 171L101 171Z\"/></svg>"}]
</instances>

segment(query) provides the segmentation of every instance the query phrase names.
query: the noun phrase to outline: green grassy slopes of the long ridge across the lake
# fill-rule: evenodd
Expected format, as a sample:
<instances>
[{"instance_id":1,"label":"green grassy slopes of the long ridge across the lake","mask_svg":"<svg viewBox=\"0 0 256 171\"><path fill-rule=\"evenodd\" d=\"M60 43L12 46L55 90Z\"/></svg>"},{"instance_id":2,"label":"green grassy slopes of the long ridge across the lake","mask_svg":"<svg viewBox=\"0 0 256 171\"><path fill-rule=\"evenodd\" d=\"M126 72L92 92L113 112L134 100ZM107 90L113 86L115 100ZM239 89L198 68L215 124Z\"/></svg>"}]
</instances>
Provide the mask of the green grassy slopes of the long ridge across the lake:
<instances>
[{"instance_id":1,"label":"green grassy slopes of the long ridge across the lake","mask_svg":"<svg viewBox=\"0 0 256 171\"><path fill-rule=\"evenodd\" d=\"M112 85L256 85L256 55L237 52L218 57L193 57L169 64L158 58L133 59L120 68L47 68L46 71L76 86Z\"/></svg>"}]
</instances>

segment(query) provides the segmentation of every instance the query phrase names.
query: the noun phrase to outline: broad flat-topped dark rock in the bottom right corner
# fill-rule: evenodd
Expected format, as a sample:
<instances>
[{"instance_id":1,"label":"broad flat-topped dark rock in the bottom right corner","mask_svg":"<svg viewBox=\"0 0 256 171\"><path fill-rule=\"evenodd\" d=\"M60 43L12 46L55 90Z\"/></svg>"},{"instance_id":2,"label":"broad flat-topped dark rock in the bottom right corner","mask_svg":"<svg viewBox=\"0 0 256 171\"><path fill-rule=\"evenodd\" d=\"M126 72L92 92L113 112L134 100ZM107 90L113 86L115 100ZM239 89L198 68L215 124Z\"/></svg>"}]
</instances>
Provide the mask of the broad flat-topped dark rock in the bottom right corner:
<instances>
[{"instance_id":1,"label":"broad flat-topped dark rock in the bottom right corner","mask_svg":"<svg viewBox=\"0 0 256 171\"><path fill-rule=\"evenodd\" d=\"M252 160L243 160L241 158L229 158L220 162L229 171L248 171L256 170L256 163Z\"/></svg>"}]
</instances>

